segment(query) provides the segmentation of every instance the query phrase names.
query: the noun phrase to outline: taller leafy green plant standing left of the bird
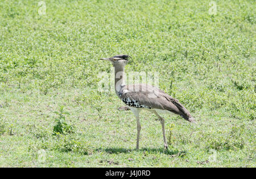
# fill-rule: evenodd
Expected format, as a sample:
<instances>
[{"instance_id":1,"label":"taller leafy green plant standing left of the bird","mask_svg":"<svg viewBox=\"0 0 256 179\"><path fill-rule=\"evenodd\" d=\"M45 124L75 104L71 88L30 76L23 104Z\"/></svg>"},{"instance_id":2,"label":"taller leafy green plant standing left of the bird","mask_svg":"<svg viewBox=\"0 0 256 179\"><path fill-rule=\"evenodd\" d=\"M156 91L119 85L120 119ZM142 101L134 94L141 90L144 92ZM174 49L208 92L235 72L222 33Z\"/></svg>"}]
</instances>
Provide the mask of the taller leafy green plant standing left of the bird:
<instances>
[{"instance_id":1,"label":"taller leafy green plant standing left of the bird","mask_svg":"<svg viewBox=\"0 0 256 179\"><path fill-rule=\"evenodd\" d=\"M55 119L56 125L53 127L53 135L67 134L73 132L73 126L65 122L65 115L70 115L68 112L64 111L64 106L60 107L60 111L55 111L54 113L59 115L59 118Z\"/></svg>"}]
</instances>

